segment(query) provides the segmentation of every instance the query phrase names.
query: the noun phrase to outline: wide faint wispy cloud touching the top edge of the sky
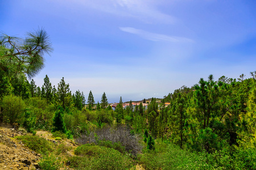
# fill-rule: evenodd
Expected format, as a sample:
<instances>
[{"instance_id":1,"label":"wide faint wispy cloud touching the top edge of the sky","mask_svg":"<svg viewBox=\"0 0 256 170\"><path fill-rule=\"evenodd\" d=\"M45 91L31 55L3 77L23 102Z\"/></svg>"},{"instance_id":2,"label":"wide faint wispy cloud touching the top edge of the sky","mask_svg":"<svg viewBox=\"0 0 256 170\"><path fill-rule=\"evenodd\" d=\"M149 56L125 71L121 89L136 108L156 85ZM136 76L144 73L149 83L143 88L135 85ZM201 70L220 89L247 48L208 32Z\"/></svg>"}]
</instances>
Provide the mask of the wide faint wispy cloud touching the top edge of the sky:
<instances>
[{"instance_id":1,"label":"wide faint wispy cloud touching the top edge of the sky","mask_svg":"<svg viewBox=\"0 0 256 170\"><path fill-rule=\"evenodd\" d=\"M176 22L176 18L171 15L164 14L158 10L155 5L156 1L144 0L76 0L84 7L94 8L102 12L110 14L132 17L142 20L145 23L166 23L172 24ZM72 1L74 3L74 1Z\"/></svg>"}]
</instances>

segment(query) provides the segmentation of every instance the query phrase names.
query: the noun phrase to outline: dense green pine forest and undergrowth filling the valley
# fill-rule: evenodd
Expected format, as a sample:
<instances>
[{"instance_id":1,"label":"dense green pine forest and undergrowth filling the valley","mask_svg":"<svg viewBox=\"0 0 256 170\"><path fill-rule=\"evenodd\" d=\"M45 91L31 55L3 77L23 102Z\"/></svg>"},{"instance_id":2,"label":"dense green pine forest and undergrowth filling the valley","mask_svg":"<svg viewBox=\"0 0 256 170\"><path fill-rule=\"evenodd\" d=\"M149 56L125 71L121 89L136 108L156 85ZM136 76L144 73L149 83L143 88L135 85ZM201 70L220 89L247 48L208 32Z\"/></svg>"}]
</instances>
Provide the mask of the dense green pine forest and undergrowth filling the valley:
<instances>
[{"instance_id":1,"label":"dense green pine forest and undergrowth filling the valley","mask_svg":"<svg viewBox=\"0 0 256 170\"><path fill-rule=\"evenodd\" d=\"M46 75L37 87L31 78L51 52L44 29L26 39L1 35L0 124L32 134L52 131L79 143L65 162L70 167L256 169L256 72L247 79L209 75L161 101L152 97L146 109L131 101L123 108L121 97L113 111L105 92L100 103L92 91L85 100L64 78L55 87Z\"/></svg>"}]
</instances>

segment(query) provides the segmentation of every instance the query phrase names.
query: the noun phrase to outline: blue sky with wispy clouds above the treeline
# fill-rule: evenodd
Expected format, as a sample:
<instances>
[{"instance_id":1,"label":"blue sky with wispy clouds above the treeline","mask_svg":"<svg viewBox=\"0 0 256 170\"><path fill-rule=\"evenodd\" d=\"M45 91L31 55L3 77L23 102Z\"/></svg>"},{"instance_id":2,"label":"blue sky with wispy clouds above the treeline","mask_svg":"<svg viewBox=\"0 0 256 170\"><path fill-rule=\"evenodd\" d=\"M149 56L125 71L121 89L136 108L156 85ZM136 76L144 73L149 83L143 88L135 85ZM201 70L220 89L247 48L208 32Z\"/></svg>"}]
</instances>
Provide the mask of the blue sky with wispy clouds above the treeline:
<instances>
[{"instance_id":1,"label":"blue sky with wispy clouds above the treeline","mask_svg":"<svg viewBox=\"0 0 256 170\"><path fill-rule=\"evenodd\" d=\"M256 1L0 1L0 31L43 27L54 48L34 77L110 102L163 97L213 74L255 71Z\"/></svg>"}]
</instances>

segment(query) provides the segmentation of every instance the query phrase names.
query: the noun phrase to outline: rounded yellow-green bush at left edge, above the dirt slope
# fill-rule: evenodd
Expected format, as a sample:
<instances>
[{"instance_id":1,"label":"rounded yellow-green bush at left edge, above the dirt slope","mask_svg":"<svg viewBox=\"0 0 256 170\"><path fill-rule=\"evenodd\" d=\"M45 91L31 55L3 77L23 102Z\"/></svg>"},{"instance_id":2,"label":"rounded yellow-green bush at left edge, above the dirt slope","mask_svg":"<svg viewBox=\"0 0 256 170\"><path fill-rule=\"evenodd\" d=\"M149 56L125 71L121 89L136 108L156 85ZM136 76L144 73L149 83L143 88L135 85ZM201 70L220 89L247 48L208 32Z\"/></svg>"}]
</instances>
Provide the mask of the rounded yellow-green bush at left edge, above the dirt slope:
<instances>
[{"instance_id":1,"label":"rounded yellow-green bush at left edge, above the dirt slope","mask_svg":"<svg viewBox=\"0 0 256 170\"><path fill-rule=\"evenodd\" d=\"M11 125L15 122L23 124L26 104L21 97L13 95L4 96L1 107L3 108L3 121L8 122Z\"/></svg>"}]
</instances>

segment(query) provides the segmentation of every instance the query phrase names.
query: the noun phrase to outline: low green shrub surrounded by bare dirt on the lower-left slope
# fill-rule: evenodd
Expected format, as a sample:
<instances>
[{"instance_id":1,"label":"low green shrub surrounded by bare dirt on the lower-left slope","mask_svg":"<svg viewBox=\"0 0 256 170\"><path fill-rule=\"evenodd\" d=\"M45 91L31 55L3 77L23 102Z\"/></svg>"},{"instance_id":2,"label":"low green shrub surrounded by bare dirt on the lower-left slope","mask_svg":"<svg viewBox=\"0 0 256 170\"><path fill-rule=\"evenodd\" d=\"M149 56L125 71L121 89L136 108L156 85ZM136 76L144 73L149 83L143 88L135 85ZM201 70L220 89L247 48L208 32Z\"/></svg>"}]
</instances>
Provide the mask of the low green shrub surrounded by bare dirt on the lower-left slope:
<instances>
[{"instance_id":1,"label":"low green shrub surrounded by bare dirt on the lower-left slope","mask_svg":"<svg viewBox=\"0 0 256 170\"><path fill-rule=\"evenodd\" d=\"M53 143L47 141L44 138L40 138L37 135L30 136L30 135L23 135L15 137L24 143L25 146L34 150L35 152L39 152L42 154L46 154L48 152L53 151Z\"/></svg>"}]
</instances>

